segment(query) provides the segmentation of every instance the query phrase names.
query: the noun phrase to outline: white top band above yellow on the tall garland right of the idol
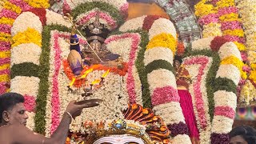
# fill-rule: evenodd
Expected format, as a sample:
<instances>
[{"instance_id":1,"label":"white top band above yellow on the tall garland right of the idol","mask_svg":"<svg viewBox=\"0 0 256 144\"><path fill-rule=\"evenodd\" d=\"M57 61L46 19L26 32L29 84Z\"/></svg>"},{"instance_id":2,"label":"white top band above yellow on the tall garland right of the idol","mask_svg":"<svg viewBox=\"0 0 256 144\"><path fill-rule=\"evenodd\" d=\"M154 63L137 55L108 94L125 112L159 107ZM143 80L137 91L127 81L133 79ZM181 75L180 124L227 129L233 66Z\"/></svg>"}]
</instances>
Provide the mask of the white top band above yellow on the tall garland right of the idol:
<instances>
[{"instance_id":1,"label":"white top band above yellow on the tall garland right of the idol","mask_svg":"<svg viewBox=\"0 0 256 144\"><path fill-rule=\"evenodd\" d=\"M154 36L162 33L171 34L176 38L176 29L169 19L159 18L155 20L149 30L149 38L152 39Z\"/></svg>"}]
</instances>

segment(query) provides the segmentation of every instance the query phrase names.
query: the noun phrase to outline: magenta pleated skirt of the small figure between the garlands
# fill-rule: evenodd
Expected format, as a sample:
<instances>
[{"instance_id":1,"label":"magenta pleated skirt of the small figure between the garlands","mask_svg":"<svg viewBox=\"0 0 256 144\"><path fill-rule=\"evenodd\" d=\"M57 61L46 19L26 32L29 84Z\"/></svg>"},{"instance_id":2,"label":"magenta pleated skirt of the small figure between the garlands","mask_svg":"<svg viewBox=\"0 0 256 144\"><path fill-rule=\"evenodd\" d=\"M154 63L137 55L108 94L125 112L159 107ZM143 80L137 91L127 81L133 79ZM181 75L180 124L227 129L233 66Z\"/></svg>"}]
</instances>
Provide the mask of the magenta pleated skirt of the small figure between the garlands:
<instances>
[{"instance_id":1,"label":"magenta pleated skirt of the small figure between the garlands","mask_svg":"<svg viewBox=\"0 0 256 144\"><path fill-rule=\"evenodd\" d=\"M178 90L178 95L180 97L180 105L182 107L186 125L190 130L190 138L199 138L191 95L188 90Z\"/></svg>"}]
</instances>

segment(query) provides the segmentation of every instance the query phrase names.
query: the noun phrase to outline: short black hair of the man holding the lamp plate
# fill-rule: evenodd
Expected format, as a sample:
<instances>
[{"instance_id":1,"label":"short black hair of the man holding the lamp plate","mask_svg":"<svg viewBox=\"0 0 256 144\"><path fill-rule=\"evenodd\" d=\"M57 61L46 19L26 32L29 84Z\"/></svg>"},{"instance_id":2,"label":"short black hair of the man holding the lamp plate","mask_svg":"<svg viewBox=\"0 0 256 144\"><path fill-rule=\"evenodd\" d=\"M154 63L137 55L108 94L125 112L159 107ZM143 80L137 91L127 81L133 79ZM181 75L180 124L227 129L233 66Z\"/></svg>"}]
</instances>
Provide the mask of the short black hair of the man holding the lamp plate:
<instances>
[{"instance_id":1,"label":"short black hair of the man holding the lamp plate","mask_svg":"<svg viewBox=\"0 0 256 144\"><path fill-rule=\"evenodd\" d=\"M17 103L24 102L22 94L5 93L0 95L0 123L2 123L2 112L11 110Z\"/></svg>"}]
</instances>

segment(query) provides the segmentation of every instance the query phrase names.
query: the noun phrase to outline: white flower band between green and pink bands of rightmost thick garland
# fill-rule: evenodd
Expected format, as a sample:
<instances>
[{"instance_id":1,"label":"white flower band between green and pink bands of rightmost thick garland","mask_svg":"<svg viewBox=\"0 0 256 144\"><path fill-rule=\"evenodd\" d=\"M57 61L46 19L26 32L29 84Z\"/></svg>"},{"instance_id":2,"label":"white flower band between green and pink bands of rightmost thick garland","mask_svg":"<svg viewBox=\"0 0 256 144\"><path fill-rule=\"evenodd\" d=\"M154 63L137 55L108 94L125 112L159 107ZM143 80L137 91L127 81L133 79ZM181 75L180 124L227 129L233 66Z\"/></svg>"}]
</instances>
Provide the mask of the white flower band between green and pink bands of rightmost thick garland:
<instances>
[{"instance_id":1,"label":"white flower band between green and pink bands of rightmost thick garland","mask_svg":"<svg viewBox=\"0 0 256 144\"><path fill-rule=\"evenodd\" d=\"M234 111L237 106L237 96L233 92L218 90L214 92L214 104L217 106L230 106Z\"/></svg>"}]
</instances>

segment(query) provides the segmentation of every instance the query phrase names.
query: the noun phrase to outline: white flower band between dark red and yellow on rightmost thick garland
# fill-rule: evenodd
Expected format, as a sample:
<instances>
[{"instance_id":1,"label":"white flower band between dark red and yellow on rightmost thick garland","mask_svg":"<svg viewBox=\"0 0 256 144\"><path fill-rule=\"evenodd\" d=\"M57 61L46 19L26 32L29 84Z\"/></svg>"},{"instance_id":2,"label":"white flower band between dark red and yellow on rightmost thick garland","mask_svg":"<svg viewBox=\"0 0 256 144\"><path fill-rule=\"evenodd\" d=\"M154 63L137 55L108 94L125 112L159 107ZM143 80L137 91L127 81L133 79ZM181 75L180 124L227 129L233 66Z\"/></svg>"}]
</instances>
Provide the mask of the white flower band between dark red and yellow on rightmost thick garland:
<instances>
[{"instance_id":1,"label":"white flower band between dark red and yellow on rightmost thick garland","mask_svg":"<svg viewBox=\"0 0 256 144\"><path fill-rule=\"evenodd\" d=\"M236 46L234 42L224 43L218 50L218 55L221 58L221 60L223 60L226 57L234 55L242 61L240 51L238 50L238 46Z\"/></svg>"}]
</instances>

